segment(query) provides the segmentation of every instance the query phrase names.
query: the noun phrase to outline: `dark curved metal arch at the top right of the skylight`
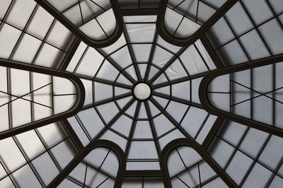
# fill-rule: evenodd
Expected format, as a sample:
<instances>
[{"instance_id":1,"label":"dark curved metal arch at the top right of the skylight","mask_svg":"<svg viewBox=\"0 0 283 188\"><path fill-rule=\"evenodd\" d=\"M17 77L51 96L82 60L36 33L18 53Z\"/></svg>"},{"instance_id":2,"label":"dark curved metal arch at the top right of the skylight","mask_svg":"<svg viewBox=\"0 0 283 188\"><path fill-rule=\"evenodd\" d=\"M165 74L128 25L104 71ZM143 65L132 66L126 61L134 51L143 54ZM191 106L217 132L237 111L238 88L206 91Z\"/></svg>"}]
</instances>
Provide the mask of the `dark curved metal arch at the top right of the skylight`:
<instances>
[{"instance_id":1,"label":"dark curved metal arch at the top right of the skylight","mask_svg":"<svg viewBox=\"0 0 283 188\"><path fill-rule=\"evenodd\" d=\"M158 14L157 14L157 20L156 20L156 29L158 31L158 34L161 35L161 37L166 40L167 42L180 46L180 47L185 47L185 46L190 46L192 45L195 41L200 39L205 33L207 33L207 30L214 25L224 14L230 10L230 8L236 4L238 0L228 0L226 3L221 6L209 20L207 20L201 27L198 29L193 35L190 37L186 38L179 38L179 37L174 37L171 35L171 33L168 33L166 30L166 27L164 25L164 18L165 18L165 13L166 13L166 6L168 4L168 0L161 0L158 8Z\"/></svg>"}]
</instances>

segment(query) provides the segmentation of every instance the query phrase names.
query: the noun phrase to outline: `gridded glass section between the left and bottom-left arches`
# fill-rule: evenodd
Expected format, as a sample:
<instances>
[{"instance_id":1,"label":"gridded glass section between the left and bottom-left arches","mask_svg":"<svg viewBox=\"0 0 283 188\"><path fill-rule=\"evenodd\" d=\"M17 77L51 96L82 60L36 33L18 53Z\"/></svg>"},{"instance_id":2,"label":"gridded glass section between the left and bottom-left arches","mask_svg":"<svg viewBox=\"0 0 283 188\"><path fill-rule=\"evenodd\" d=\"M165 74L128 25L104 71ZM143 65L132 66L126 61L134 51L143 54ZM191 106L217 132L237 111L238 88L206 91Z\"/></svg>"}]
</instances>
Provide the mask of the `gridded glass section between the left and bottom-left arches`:
<instances>
[{"instance_id":1,"label":"gridded glass section between the left and bottom-left arches","mask_svg":"<svg viewBox=\"0 0 283 188\"><path fill-rule=\"evenodd\" d=\"M0 187L47 187L77 151L59 122L0 141Z\"/></svg>"}]
</instances>

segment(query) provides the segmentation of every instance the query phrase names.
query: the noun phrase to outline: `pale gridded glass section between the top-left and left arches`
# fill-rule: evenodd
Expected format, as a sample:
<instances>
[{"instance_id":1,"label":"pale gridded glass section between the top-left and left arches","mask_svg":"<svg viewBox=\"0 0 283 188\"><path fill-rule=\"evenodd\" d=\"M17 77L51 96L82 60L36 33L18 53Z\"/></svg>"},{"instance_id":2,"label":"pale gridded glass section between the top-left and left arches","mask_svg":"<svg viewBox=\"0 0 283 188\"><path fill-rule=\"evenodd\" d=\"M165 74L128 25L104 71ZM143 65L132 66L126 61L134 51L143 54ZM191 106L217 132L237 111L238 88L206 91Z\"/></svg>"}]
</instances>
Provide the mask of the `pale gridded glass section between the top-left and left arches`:
<instances>
[{"instance_id":1,"label":"pale gridded glass section between the top-left and left arches","mask_svg":"<svg viewBox=\"0 0 283 188\"><path fill-rule=\"evenodd\" d=\"M0 57L38 66L57 68L74 39L33 0L2 0L0 28Z\"/></svg>"}]
</instances>

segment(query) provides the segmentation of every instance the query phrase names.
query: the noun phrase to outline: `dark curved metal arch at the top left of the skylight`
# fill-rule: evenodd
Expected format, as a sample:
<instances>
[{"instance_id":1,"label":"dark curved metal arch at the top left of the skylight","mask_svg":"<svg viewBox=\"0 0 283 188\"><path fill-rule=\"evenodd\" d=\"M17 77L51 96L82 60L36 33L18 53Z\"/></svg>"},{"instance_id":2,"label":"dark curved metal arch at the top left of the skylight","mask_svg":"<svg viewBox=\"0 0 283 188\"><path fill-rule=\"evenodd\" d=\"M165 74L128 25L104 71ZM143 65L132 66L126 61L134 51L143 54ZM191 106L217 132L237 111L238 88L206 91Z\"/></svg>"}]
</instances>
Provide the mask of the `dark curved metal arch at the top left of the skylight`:
<instances>
[{"instance_id":1,"label":"dark curved metal arch at the top left of the skylight","mask_svg":"<svg viewBox=\"0 0 283 188\"><path fill-rule=\"evenodd\" d=\"M123 24L122 24L122 16L120 13L119 5L117 0L110 0L110 4L112 6L113 13L116 19L116 28L115 31L106 39L103 40L93 40L84 34L81 30L76 28L76 26L71 23L66 17L62 16L59 11L57 11L51 4L49 4L46 0L35 0L37 4L42 6L48 13L50 13L54 18L59 20L66 28L68 28L76 37L79 37L80 40L86 43L86 45L91 47L108 47L116 42L123 32Z\"/></svg>"}]
</instances>

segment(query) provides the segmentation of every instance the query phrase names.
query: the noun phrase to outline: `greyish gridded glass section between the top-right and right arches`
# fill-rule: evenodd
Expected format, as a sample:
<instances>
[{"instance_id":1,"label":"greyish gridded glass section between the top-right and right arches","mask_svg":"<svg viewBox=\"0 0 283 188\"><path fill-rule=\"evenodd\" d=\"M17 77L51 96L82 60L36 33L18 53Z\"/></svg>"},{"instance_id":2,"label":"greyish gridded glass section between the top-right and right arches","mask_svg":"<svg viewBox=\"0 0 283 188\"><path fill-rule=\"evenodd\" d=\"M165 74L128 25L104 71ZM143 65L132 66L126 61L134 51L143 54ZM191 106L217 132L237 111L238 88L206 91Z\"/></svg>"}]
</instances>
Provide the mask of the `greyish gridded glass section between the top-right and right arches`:
<instances>
[{"instance_id":1,"label":"greyish gridded glass section between the top-right and right arches","mask_svg":"<svg viewBox=\"0 0 283 188\"><path fill-rule=\"evenodd\" d=\"M282 14L282 1L241 0L207 37L224 66L282 54Z\"/></svg>"}]
</instances>

